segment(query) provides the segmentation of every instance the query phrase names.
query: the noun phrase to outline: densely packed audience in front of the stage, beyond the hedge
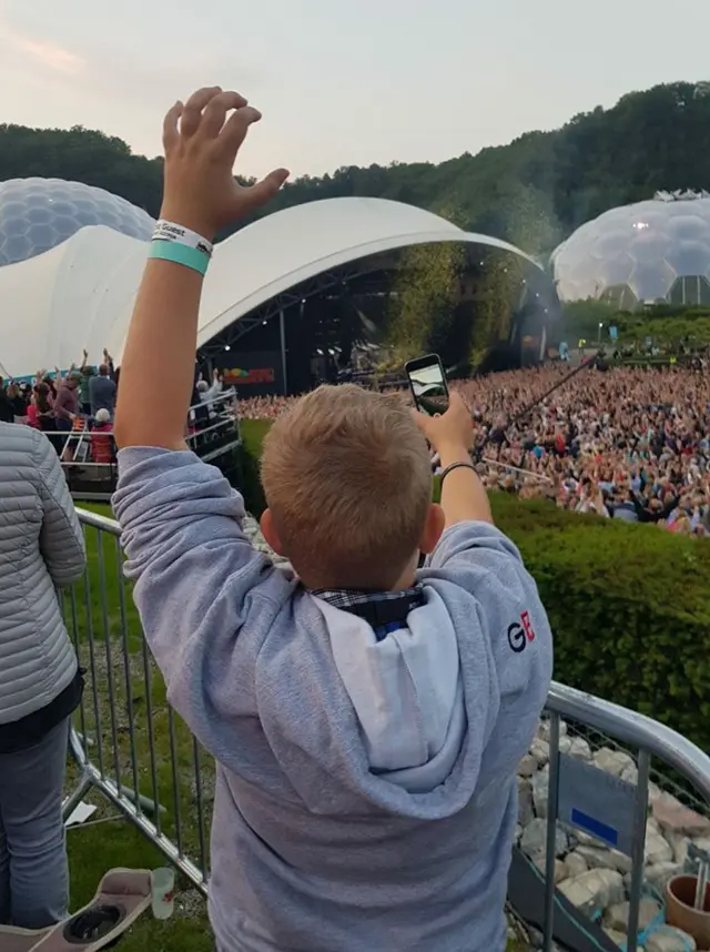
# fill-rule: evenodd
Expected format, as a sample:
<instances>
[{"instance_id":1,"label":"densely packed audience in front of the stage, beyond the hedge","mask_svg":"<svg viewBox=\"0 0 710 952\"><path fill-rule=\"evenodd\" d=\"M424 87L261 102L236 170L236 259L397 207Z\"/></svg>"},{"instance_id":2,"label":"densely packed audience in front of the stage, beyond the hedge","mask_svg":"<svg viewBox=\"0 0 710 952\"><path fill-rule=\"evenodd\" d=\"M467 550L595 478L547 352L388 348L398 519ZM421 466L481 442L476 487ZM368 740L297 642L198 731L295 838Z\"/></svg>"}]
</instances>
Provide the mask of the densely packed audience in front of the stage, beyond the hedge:
<instances>
[{"instance_id":1,"label":"densely packed audience in front of the stage, beyond the hedge","mask_svg":"<svg viewBox=\"0 0 710 952\"><path fill-rule=\"evenodd\" d=\"M569 373L567 365L458 381L488 488L546 498L579 513L710 534L710 379L687 367L582 369L510 425ZM284 397L240 401L244 418L274 419Z\"/></svg>"}]
</instances>

